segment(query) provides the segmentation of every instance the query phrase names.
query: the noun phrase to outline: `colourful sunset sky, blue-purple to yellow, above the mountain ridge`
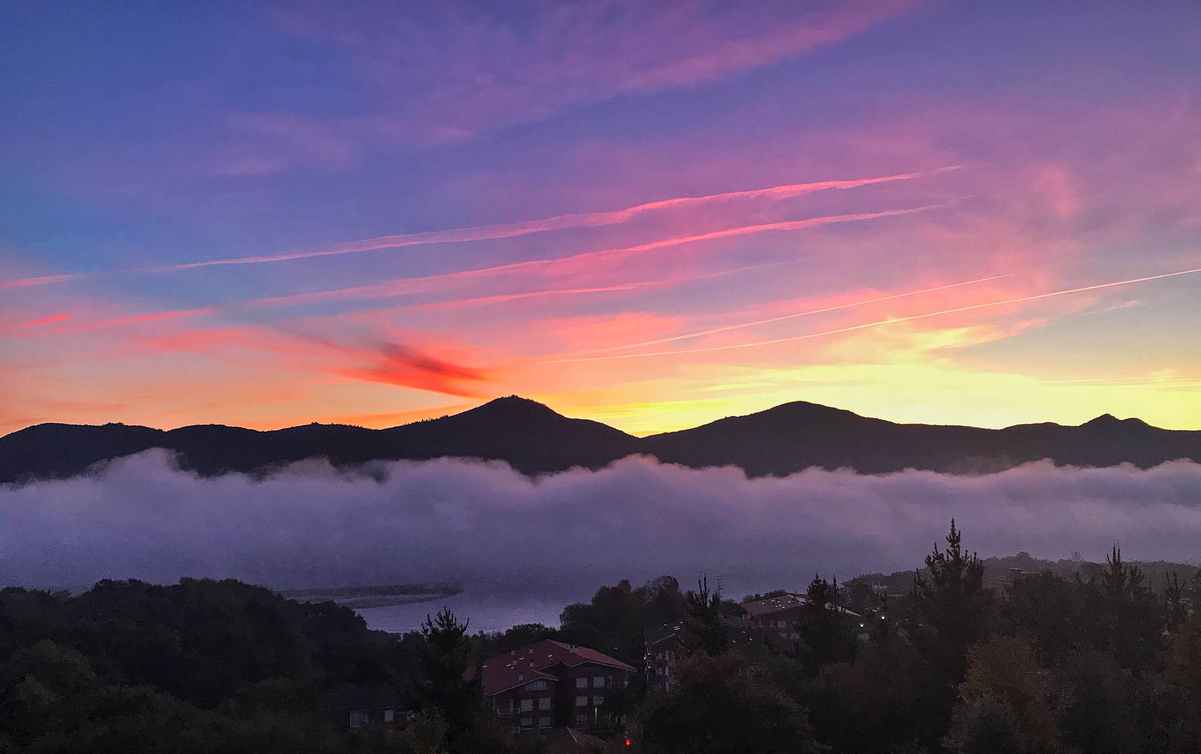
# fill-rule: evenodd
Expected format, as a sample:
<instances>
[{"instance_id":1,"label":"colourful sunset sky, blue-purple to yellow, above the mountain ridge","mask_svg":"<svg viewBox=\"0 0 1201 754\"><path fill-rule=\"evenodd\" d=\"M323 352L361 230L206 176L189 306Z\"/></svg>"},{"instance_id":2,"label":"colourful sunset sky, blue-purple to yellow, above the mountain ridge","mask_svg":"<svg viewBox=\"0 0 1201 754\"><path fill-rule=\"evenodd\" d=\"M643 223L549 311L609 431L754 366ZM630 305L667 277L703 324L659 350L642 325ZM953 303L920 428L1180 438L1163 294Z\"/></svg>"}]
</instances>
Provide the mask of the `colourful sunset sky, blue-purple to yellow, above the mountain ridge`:
<instances>
[{"instance_id":1,"label":"colourful sunset sky, blue-purple to yellow, above the mountain ridge","mask_svg":"<svg viewBox=\"0 0 1201 754\"><path fill-rule=\"evenodd\" d=\"M0 433L1201 429L1194 1L0 4Z\"/></svg>"}]
</instances>

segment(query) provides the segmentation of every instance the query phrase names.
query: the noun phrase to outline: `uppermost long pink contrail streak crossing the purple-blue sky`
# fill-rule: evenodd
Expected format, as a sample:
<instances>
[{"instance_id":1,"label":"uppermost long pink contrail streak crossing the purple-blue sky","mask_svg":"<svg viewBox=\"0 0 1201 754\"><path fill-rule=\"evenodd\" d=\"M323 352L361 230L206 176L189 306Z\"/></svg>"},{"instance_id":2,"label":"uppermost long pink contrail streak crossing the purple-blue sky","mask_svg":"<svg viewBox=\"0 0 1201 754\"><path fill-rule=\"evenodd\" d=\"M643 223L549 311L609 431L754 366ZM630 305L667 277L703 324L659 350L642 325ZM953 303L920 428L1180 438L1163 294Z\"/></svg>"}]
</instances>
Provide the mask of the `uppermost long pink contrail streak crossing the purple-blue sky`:
<instances>
[{"instance_id":1,"label":"uppermost long pink contrail streak crossing the purple-blue sky","mask_svg":"<svg viewBox=\"0 0 1201 754\"><path fill-rule=\"evenodd\" d=\"M192 270L202 267L217 267L229 264L262 264L267 262L287 262L291 259L307 259L311 257L328 257L347 253L360 253L365 251L378 251L382 249L401 249L405 246L423 246L430 244L453 244L462 241L498 240L504 238L516 238L533 233L545 233L549 231L563 231L569 228L594 228L609 225L629 222L634 217L663 209L689 207L711 202L729 202L736 199L769 198L773 201L813 193L817 191L858 188L873 184L884 184L898 180L912 180L956 170L960 166L949 166L934 170L922 170L914 173L897 173L894 175L882 175L877 178L860 178L850 180L826 180L808 184L784 184L769 188L752 188L747 191L729 191L725 193L711 193L699 197L676 197L635 204L626 209L600 211L600 213L572 213L567 215L555 215L539 220L525 220L521 222L495 223L486 226L472 226L467 228L453 228L447 231L426 231L423 233L404 233L398 235L381 235L359 241L348 241L329 249L313 249L309 251L293 251L277 255L256 255L247 257L231 257L226 259L208 259L204 262L186 262L183 264L160 264L155 267L129 268L123 270L97 270L89 273L66 273L62 275L42 275L40 277L23 277L17 280L0 281L0 289L22 288L29 286L44 286L67 280L92 277L97 275L112 275L116 273L133 273L142 275L178 273Z\"/></svg>"}]
</instances>

